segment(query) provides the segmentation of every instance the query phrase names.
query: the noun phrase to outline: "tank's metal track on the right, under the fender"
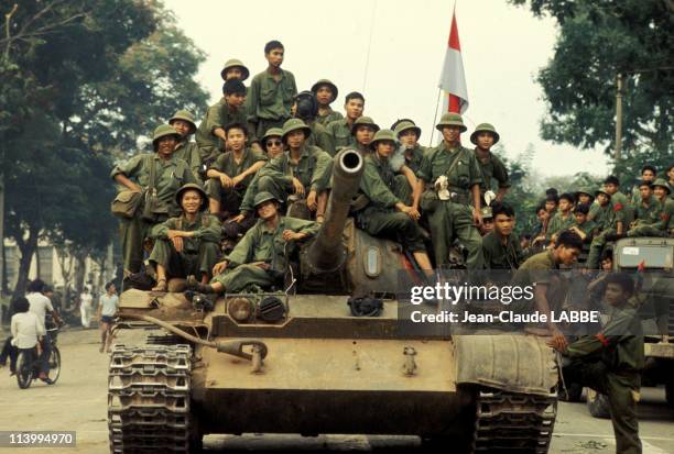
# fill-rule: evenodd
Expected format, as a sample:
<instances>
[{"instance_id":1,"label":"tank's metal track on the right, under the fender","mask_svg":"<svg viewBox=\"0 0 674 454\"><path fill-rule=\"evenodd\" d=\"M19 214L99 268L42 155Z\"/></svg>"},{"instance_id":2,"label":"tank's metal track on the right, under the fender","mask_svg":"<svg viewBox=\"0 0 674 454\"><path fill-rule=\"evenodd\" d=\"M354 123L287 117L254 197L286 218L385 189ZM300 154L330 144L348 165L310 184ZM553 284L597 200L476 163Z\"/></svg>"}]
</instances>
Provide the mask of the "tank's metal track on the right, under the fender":
<instances>
[{"instance_id":1,"label":"tank's metal track on the right, under the fender","mask_svg":"<svg viewBox=\"0 0 674 454\"><path fill-rule=\"evenodd\" d=\"M546 454L557 397L479 391L472 452Z\"/></svg>"}]
</instances>

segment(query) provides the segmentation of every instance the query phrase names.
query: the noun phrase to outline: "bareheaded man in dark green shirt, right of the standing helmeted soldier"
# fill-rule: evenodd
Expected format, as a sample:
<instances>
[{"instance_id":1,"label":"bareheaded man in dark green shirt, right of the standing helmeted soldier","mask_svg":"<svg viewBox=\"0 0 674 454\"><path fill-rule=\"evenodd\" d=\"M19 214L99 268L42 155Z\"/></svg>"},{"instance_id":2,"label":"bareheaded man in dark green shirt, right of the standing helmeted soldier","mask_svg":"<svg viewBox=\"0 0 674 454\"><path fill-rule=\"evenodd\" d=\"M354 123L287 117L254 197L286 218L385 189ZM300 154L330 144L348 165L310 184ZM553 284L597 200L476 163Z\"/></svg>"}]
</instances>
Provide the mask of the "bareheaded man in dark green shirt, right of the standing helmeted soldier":
<instances>
[{"instance_id":1,"label":"bareheaded man in dark green shirt, right of the standing helmeted soldier","mask_svg":"<svg viewBox=\"0 0 674 454\"><path fill-rule=\"evenodd\" d=\"M482 253L487 269L515 270L524 263L524 253L513 235L515 214L507 203L491 207L493 231L482 236Z\"/></svg>"}]
</instances>

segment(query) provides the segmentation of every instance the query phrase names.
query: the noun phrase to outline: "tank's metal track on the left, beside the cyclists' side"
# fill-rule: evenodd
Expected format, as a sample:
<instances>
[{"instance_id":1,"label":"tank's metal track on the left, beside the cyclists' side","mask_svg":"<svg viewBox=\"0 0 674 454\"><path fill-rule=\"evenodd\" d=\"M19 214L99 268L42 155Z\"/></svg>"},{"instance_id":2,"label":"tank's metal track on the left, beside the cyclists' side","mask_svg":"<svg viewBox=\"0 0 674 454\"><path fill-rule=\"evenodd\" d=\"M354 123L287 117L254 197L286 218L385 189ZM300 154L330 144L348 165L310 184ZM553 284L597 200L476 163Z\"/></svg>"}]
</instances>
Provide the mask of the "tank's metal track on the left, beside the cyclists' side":
<instances>
[{"instance_id":1,"label":"tank's metal track on the left, beside the cyclists' side","mask_svg":"<svg viewBox=\"0 0 674 454\"><path fill-rule=\"evenodd\" d=\"M189 345L116 345L108 378L110 453L188 453Z\"/></svg>"}]
</instances>

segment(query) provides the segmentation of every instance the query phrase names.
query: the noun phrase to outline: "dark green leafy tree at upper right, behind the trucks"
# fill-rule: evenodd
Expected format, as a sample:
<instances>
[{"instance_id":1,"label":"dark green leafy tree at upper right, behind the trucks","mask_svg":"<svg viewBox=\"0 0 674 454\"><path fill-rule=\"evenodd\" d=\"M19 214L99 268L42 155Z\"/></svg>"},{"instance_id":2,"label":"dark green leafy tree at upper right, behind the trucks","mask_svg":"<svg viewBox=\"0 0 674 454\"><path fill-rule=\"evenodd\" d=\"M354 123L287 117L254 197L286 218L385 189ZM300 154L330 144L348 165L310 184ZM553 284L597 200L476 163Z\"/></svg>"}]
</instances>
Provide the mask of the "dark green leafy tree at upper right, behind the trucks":
<instances>
[{"instance_id":1,"label":"dark green leafy tree at upper right, behind the trucks","mask_svg":"<svg viewBox=\"0 0 674 454\"><path fill-rule=\"evenodd\" d=\"M616 80L624 77L627 167L661 164L674 133L674 2L671 0L509 0L559 25L554 55L536 80L547 115L545 140L615 148ZM622 165L622 163L617 163ZM621 169L622 167L618 167Z\"/></svg>"}]
</instances>

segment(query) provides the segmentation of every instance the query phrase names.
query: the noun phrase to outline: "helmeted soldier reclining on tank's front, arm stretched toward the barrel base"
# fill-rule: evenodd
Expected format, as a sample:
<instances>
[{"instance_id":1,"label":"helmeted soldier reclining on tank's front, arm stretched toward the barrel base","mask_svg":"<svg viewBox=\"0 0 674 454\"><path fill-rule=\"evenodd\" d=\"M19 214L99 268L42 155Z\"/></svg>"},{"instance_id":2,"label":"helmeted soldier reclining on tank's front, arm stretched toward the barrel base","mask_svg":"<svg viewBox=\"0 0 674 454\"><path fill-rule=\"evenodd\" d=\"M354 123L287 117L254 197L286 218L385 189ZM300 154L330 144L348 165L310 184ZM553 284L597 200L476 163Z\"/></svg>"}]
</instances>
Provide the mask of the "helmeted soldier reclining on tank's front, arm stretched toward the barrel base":
<instances>
[{"instance_id":1,"label":"helmeted soldier reclining on tank's front, arm stretched toward the barrel base","mask_svg":"<svg viewBox=\"0 0 674 454\"><path fill-rule=\"evenodd\" d=\"M258 193L254 207L260 217L256 225L225 261L214 266L210 284L189 279L192 289L203 294L236 294L251 286L269 288L278 285L289 257L295 252L296 242L318 232L316 222L280 215L280 201L270 192Z\"/></svg>"}]
</instances>

